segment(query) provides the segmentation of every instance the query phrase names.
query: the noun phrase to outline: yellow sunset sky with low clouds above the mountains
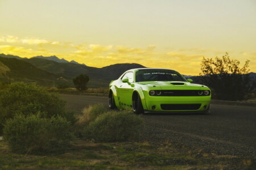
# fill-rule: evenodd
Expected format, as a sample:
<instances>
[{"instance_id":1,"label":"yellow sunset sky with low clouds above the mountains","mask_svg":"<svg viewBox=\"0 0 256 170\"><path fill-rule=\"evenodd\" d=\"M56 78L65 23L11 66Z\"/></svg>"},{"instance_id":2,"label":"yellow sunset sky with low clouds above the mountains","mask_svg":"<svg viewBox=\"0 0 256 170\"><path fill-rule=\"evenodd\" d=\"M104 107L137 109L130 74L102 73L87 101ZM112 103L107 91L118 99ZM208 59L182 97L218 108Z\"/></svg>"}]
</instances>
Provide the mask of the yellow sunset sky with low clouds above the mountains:
<instances>
[{"instance_id":1,"label":"yellow sunset sky with low clouds above the mountains","mask_svg":"<svg viewBox=\"0 0 256 170\"><path fill-rule=\"evenodd\" d=\"M4 54L199 75L203 56L225 52L256 72L255 0L0 0Z\"/></svg>"}]
</instances>

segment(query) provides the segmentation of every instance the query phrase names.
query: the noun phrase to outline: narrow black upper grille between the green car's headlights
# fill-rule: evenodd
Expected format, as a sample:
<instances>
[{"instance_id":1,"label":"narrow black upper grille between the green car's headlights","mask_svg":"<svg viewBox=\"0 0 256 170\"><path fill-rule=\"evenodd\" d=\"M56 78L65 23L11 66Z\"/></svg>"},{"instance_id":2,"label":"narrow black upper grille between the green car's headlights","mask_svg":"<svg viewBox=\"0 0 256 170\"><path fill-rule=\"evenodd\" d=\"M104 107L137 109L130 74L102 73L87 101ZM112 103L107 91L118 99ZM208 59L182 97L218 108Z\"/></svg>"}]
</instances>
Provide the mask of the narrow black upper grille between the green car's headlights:
<instances>
[{"instance_id":1,"label":"narrow black upper grille between the green car's headlights","mask_svg":"<svg viewBox=\"0 0 256 170\"><path fill-rule=\"evenodd\" d=\"M162 96L199 96L198 90L162 90Z\"/></svg>"}]
</instances>

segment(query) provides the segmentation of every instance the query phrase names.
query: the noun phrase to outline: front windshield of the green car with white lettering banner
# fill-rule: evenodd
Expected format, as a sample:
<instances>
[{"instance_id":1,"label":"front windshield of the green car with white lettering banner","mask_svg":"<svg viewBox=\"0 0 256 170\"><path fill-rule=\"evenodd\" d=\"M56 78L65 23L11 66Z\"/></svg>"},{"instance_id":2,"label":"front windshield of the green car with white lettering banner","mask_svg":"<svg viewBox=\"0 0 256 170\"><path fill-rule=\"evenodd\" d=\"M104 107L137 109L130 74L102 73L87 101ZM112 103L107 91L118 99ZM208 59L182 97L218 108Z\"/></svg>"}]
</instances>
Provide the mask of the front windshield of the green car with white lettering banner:
<instances>
[{"instance_id":1,"label":"front windshield of the green car with white lettering banner","mask_svg":"<svg viewBox=\"0 0 256 170\"><path fill-rule=\"evenodd\" d=\"M148 81L181 81L187 80L174 70L139 70L136 72L136 82Z\"/></svg>"}]
</instances>

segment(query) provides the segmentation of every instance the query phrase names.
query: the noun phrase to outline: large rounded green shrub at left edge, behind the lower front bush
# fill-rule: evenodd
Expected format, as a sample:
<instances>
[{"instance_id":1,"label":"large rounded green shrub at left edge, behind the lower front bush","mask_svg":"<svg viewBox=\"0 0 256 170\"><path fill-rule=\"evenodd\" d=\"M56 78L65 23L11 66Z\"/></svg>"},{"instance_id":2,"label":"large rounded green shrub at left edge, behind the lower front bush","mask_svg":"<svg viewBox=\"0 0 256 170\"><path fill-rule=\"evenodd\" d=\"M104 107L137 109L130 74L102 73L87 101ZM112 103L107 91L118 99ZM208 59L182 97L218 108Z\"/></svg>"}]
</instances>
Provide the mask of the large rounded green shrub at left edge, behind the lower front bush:
<instances>
[{"instance_id":1,"label":"large rounded green shrub at left edge, behind the lower front bush","mask_svg":"<svg viewBox=\"0 0 256 170\"><path fill-rule=\"evenodd\" d=\"M13 83L0 94L0 134L6 120L15 114L28 116L42 112L43 117L59 115L73 121L74 115L65 111L65 101L36 84Z\"/></svg>"}]
</instances>

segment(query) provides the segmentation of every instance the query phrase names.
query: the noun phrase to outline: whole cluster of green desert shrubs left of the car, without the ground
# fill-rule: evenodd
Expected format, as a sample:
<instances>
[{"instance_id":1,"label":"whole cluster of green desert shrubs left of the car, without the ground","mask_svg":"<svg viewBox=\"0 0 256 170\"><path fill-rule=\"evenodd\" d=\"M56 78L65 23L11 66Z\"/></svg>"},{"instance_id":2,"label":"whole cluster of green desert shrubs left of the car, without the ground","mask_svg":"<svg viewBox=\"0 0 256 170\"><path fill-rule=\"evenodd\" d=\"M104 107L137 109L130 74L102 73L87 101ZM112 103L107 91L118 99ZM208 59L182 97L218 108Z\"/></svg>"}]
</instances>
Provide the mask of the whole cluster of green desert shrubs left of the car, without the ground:
<instances>
[{"instance_id":1,"label":"whole cluster of green desert shrubs left of the car, without the ground","mask_svg":"<svg viewBox=\"0 0 256 170\"><path fill-rule=\"evenodd\" d=\"M64 100L36 84L10 84L1 90L0 107L0 134L11 151L22 154L64 152L75 135L101 142L127 141L144 124L142 117L109 112L102 104L84 109L82 115L66 111Z\"/></svg>"}]
</instances>

